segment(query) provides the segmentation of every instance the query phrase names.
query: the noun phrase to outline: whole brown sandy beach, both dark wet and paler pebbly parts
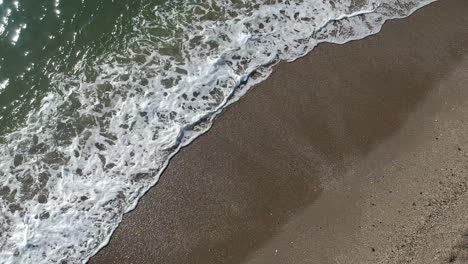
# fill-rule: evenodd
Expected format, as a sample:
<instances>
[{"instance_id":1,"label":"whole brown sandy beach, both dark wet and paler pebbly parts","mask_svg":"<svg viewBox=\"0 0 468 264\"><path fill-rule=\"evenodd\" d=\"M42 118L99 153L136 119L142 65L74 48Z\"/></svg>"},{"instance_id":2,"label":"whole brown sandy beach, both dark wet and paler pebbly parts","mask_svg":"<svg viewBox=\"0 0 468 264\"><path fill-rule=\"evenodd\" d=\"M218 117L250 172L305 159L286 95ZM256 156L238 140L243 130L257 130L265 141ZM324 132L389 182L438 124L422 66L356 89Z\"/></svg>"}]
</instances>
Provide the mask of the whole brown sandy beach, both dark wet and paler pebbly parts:
<instances>
[{"instance_id":1,"label":"whole brown sandy beach, both dark wet and paler pebbly parts","mask_svg":"<svg viewBox=\"0 0 468 264\"><path fill-rule=\"evenodd\" d=\"M90 263L467 263L466 14L440 1L279 65Z\"/></svg>"}]
</instances>

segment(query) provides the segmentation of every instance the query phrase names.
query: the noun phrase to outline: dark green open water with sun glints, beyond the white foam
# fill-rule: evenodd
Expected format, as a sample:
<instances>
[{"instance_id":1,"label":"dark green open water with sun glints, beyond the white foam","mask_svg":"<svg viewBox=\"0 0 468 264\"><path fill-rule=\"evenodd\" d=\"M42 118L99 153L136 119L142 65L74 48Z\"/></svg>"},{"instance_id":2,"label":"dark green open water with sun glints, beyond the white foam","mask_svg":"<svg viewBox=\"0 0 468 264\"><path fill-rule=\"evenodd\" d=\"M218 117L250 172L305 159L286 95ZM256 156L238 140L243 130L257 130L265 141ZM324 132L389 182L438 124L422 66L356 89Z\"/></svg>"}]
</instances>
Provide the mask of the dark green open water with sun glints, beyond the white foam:
<instances>
[{"instance_id":1,"label":"dark green open water with sun glints, beyond the white foam","mask_svg":"<svg viewBox=\"0 0 468 264\"><path fill-rule=\"evenodd\" d=\"M73 74L80 60L124 49L133 18L158 4L146 2L0 0L0 133L38 107L52 75Z\"/></svg>"}]
</instances>

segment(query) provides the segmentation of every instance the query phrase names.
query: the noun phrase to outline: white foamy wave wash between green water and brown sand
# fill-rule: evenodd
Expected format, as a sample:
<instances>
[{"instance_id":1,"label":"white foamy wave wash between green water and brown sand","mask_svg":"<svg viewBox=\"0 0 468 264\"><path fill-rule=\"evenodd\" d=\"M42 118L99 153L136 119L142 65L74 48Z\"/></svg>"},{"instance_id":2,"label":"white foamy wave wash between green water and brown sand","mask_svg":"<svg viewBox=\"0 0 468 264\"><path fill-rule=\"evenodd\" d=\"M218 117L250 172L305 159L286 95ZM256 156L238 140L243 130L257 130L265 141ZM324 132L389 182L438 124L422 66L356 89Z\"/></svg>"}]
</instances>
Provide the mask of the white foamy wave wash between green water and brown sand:
<instances>
[{"instance_id":1,"label":"white foamy wave wash between green water and brown sand","mask_svg":"<svg viewBox=\"0 0 468 264\"><path fill-rule=\"evenodd\" d=\"M86 262L169 159L274 64L433 0L269 2L143 10L125 51L56 74L41 107L0 137L0 262Z\"/></svg>"}]
</instances>

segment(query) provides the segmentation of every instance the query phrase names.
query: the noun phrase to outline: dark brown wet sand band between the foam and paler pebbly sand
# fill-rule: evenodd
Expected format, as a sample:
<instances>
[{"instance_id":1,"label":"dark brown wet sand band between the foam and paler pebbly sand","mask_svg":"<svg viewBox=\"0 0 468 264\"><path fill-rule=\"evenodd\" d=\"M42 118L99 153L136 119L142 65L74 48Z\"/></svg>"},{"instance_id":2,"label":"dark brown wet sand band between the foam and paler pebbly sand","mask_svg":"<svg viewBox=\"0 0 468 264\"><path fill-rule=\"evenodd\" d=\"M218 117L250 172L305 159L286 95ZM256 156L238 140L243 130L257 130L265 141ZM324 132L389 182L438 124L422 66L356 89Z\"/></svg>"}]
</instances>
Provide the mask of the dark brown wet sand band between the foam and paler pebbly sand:
<instances>
[{"instance_id":1,"label":"dark brown wet sand band between the foam and paler pebbly sand","mask_svg":"<svg viewBox=\"0 0 468 264\"><path fill-rule=\"evenodd\" d=\"M355 232L367 209L357 205L362 189L323 197L349 181L349 171L374 170L362 165L369 156L391 163L411 144L380 155L376 148L395 137L421 141L444 103L464 102L460 84L411 118L467 55L467 13L464 0L440 1L365 40L321 45L279 65L176 155L90 263L336 263L331 245L356 242L338 231ZM401 136L407 122L415 128ZM288 250L290 241L275 245L275 237L304 236L288 230L299 215L308 237L291 250L295 259L279 258L274 249ZM378 247L360 246L369 254Z\"/></svg>"}]
</instances>

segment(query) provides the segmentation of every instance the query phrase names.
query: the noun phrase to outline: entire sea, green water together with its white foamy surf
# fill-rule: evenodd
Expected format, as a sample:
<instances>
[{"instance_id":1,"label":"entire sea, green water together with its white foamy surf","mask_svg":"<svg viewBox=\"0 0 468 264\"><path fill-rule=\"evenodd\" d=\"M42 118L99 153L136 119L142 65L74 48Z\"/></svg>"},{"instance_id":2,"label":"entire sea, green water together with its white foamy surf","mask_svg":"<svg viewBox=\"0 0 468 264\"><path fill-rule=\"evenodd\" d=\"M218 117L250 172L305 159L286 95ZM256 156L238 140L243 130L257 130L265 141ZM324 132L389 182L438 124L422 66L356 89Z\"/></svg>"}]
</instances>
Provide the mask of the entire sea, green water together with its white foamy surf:
<instances>
[{"instance_id":1,"label":"entire sea, green water together with its white foamy surf","mask_svg":"<svg viewBox=\"0 0 468 264\"><path fill-rule=\"evenodd\" d=\"M276 63L433 1L0 0L0 263L85 263Z\"/></svg>"}]
</instances>

